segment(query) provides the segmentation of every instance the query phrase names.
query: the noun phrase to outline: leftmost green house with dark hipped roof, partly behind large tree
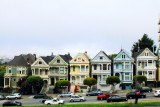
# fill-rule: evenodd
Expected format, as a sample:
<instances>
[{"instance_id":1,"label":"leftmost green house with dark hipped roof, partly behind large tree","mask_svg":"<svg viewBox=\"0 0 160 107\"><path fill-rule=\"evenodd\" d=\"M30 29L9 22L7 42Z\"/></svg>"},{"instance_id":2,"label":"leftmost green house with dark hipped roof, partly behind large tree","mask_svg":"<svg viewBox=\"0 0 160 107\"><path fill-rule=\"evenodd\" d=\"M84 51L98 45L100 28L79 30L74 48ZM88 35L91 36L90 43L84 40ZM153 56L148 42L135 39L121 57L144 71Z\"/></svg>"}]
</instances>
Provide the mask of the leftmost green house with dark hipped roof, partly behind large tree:
<instances>
[{"instance_id":1,"label":"leftmost green house with dark hipped roof, partly behind large tree","mask_svg":"<svg viewBox=\"0 0 160 107\"><path fill-rule=\"evenodd\" d=\"M36 55L27 54L15 56L6 66L4 75L4 88L18 88L17 82L27 75L31 75L31 64L36 60Z\"/></svg>"}]
</instances>

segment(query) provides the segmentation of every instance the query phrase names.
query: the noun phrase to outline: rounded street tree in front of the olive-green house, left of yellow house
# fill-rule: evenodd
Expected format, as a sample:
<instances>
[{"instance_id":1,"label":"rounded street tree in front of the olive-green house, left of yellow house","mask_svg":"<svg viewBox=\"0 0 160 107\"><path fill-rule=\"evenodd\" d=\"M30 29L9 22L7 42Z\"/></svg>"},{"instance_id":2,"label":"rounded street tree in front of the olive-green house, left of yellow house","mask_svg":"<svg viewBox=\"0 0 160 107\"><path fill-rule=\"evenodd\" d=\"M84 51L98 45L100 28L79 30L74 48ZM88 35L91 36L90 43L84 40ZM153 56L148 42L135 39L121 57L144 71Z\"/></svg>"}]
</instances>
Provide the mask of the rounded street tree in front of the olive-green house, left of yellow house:
<instances>
[{"instance_id":1,"label":"rounded street tree in front of the olive-green house, left of yellow house","mask_svg":"<svg viewBox=\"0 0 160 107\"><path fill-rule=\"evenodd\" d=\"M71 85L71 83L68 80L59 80L55 84L55 88L60 88L62 91L66 88L68 88Z\"/></svg>"}]
</instances>

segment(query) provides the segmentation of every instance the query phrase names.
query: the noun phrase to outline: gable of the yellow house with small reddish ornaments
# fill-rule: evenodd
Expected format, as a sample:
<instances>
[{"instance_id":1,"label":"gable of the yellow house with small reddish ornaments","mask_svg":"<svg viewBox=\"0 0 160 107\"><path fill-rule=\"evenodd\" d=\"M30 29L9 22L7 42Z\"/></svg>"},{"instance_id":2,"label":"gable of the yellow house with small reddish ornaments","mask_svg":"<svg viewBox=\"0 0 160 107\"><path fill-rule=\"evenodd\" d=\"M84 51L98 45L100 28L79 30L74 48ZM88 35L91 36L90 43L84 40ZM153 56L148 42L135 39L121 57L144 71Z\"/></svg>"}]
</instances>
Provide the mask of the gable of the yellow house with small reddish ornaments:
<instances>
[{"instance_id":1,"label":"gable of the yellow house with small reddish ornaments","mask_svg":"<svg viewBox=\"0 0 160 107\"><path fill-rule=\"evenodd\" d=\"M84 55L84 53L78 53L70 63L89 63L89 59Z\"/></svg>"}]
</instances>

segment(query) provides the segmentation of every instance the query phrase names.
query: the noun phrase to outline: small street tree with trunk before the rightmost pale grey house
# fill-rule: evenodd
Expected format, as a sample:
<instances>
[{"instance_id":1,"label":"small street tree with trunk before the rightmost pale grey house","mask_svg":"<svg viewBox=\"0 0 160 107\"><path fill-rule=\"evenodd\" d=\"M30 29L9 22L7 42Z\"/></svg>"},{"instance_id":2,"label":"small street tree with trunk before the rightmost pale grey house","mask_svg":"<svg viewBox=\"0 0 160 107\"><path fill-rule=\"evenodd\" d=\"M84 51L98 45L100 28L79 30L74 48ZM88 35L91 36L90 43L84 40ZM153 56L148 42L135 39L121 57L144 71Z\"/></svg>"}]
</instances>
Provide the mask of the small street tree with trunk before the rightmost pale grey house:
<instances>
[{"instance_id":1,"label":"small street tree with trunk before the rightmost pale grey house","mask_svg":"<svg viewBox=\"0 0 160 107\"><path fill-rule=\"evenodd\" d=\"M135 88L140 89L142 87L141 84L147 81L147 77L144 75L136 75L133 77L133 81L135 83Z\"/></svg>"}]
</instances>

